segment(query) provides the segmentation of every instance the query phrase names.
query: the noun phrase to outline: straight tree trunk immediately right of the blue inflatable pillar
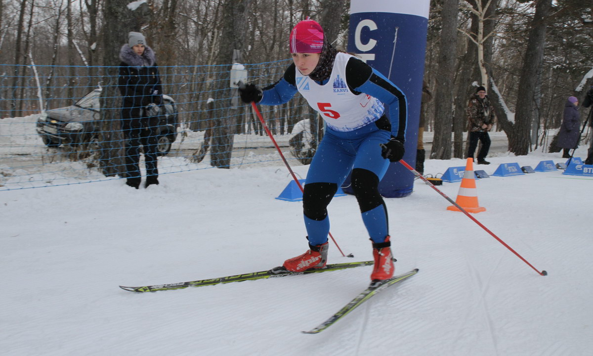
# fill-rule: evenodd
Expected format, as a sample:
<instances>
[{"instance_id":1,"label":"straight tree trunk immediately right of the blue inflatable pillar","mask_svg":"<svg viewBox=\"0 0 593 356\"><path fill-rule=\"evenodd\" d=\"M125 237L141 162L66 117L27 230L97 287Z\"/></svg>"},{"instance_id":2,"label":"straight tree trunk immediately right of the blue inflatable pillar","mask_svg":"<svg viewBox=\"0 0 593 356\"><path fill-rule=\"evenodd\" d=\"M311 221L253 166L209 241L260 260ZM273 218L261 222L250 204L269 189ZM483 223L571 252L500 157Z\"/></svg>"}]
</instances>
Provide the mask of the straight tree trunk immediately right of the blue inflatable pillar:
<instances>
[{"instance_id":1,"label":"straight tree trunk immediately right of the blue inflatable pillar","mask_svg":"<svg viewBox=\"0 0 593 356\"><path fill-rule=\"evenodd\" d=\"M444 0L442 5L441 45L435 83L435 135L431 158L451 158L451 129L455 47L457 46L458 0Z\"/></svg>"}]
</instances>

